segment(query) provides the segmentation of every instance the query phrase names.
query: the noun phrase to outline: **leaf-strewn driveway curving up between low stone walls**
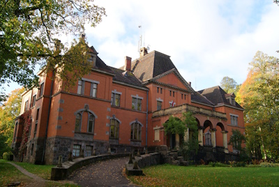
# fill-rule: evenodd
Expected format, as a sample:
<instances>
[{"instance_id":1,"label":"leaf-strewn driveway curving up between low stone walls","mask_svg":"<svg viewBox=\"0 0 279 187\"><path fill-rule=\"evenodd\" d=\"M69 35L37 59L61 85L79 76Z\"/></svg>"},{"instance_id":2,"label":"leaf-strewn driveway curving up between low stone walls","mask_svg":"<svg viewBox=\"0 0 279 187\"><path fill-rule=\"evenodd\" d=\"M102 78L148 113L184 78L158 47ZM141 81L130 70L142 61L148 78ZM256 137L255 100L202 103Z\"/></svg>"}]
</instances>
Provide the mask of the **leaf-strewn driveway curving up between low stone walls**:
<instances>
[{"instance_id":1,"label":"leaf-strewn driveway curving up between low stone walls","mask_svg":"<svg viewBox=\"0 0 279 187\"><path fill-rule=\"evenodd\" d=\"M135 186L122 172L128 157L100 161L73 172L68 181L80 186Z\"/></svg>"}]
</instances>

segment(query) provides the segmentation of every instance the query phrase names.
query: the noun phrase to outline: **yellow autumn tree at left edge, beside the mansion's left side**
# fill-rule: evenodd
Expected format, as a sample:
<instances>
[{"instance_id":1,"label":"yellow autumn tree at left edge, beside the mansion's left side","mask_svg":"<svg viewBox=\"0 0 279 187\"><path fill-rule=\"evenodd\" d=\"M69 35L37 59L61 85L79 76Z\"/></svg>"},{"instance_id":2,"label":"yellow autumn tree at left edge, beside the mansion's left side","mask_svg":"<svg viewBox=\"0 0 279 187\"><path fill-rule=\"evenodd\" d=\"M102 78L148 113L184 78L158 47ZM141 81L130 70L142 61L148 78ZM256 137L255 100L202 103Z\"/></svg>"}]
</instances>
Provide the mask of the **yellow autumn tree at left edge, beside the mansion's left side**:
<instances>
[{"instance_id":1,"label":"yellow autumn tree at left edge, beside the mansion's left side","mask_svg":"<svg viewBox=\"0 0 279 187\"><path fill-rule=\"evenodd\" d=\"M20 114L24 88L15 89L8 94L8 100L0 107L0 156L10 149L13 142L15 118Z\"/></svg>"}]
</instances>

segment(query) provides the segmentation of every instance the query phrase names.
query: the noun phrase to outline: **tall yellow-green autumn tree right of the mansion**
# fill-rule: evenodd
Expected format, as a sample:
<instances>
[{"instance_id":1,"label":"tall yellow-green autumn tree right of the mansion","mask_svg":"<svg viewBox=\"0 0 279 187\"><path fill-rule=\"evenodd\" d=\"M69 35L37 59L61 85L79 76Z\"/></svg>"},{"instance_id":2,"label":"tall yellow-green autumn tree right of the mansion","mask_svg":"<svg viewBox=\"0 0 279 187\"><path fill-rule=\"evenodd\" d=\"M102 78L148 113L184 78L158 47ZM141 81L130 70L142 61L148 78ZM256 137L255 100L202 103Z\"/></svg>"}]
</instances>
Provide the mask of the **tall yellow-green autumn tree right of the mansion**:
<instances>
[{"instance_id":1,"label":"tall yellow-green autumn tree right of the mansion","mask_svg":"<svg viewBox=\"0 0 279 187\"><path fill-rule=\"evenodd\" d=\"M246 144L250 154L278 159L279 63L276 57L262 52L255 54L237 100L245 109Z\"/></svg>"}]
</instances>

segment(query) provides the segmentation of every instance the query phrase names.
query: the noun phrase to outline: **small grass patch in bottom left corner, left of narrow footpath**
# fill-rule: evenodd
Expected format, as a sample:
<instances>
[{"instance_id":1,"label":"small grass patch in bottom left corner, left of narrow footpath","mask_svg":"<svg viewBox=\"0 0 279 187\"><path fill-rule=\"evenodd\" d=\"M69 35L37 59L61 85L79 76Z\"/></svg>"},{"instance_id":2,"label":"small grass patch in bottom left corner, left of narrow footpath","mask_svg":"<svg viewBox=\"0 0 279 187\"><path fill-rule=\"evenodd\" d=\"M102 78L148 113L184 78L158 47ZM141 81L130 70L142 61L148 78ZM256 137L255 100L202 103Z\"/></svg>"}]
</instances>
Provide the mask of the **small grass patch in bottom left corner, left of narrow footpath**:
<instances>
[{"instance_id":1,"label":"small grass patch in bottom left corner, left of narrow footpath","mask_svg":"<svg viewBox=\"0 0 279 187\"><path fill-rule=\"evenodd\" d=\"M15 181L21 181L22 185L32 181L30 177L22 174L17 168L6 162L6 160L0 159L0 186L7 186Z\"/></svg>"}]
</instances>

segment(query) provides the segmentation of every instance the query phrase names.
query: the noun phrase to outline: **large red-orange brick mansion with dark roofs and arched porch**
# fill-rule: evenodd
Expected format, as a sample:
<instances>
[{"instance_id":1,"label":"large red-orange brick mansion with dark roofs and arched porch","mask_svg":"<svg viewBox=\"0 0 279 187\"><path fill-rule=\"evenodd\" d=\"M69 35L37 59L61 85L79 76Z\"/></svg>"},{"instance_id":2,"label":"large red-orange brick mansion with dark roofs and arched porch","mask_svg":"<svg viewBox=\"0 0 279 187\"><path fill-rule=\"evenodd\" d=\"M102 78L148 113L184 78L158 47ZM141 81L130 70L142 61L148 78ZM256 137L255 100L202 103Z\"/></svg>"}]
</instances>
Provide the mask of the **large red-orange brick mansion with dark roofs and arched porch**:
<instances>
[{"instance_id":1,"label":"large red-orange brick mansion with dark roofs and arched porch","mask_svg":"<svg viewBox=\"0 0 279 187\"><path fill-rule=\"evenodd\" d=\"M161 145L173 149L179 137L165 135L163 124L187 111L197 120L201 147L234 151L228 146L232 129L244 132L243 108L234 94L218 86L195 91L170 57L157 51L142 48L139 59L125 57L123 67L113 68L90 48L91 73L73 89L38 73L40 87L22 94L21 114L29 112L29 126L24 131L23 115L15 121L12 147L18 159L55 164L59 156L68 160L70 152L75 157Z\"/></svg>"}]
</instances>

